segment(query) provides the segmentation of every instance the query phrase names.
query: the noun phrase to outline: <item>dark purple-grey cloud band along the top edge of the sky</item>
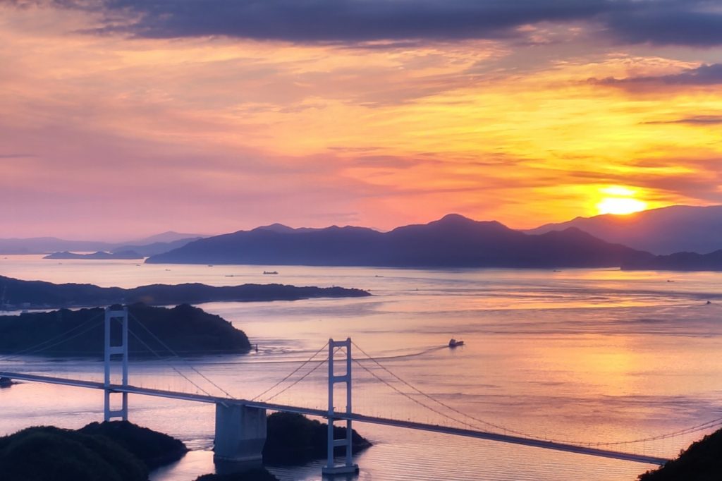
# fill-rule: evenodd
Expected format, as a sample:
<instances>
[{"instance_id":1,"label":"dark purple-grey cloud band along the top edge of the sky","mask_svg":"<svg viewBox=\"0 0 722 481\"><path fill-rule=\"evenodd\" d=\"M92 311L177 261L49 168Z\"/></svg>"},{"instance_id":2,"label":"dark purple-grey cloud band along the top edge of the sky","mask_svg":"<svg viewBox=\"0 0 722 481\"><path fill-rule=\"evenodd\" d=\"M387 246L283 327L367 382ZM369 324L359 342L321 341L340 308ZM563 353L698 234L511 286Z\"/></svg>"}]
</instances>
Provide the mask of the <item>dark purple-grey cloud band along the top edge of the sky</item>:
<instances>
[{"instance_id":1,"label":"dark purple-grey cloud band along the top edge of the sky","mask_svg":"<svg viewBox=\"0 0 722 481\"><path fill-rule=\"evenodd\" d=\"M142 38L225 36L292 42L522 36L542 22L590 22L613 40L722 45L712 0L0 0L97 12L90 32ZM591 29L599 31L599 29Z\"/></svg>"}]
</instances>

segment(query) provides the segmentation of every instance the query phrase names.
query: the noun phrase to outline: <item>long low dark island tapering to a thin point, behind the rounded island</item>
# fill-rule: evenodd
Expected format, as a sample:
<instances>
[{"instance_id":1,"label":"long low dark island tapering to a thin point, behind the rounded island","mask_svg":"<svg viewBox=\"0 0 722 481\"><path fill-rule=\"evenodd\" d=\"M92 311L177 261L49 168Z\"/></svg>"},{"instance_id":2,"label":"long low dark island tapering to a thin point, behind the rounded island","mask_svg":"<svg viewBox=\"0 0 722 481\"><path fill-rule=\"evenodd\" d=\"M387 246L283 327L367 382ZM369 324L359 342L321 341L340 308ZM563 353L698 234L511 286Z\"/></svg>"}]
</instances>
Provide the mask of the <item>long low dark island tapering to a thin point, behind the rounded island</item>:
<instances>
[{"instance_id":1,"label":"long low dark island tapering to a thin point, behind the rounded island","mask_svg":"<svg viewBox=\"0 0 722 481\"><path fill-rule=\"evenodd\" d=\"M0 276L0 308L63 308L109 306L142 302L152 306L175 306L217 301L299 300L351 298L370 295L345 287L297 287L282 284L210 286L199 283L153 284L124 289L92 284L53 284Z\"/></svg>"}]
</instances>

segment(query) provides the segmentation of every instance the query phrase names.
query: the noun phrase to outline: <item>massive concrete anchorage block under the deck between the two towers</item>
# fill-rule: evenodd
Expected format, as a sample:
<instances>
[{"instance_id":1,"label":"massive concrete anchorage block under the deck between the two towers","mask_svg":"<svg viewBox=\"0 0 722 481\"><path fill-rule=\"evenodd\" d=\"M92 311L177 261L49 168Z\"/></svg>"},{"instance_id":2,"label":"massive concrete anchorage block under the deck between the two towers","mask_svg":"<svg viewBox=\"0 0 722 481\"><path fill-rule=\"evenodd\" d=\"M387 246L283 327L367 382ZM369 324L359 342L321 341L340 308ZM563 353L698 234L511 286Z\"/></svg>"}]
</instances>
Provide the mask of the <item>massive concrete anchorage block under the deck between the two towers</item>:
<instances>
[{"instance_id":1,"label":"massive concrete anchorage block under the deck between the two towers","mask_svg":"<svg viewBox=\"0 0 722 481\"><path fill-rule=\"evenodd\" d=\"M265 443L266 410L243 404L216 404L214 462L253 467L261 464Z\"/></svg>"}]
</instances>

